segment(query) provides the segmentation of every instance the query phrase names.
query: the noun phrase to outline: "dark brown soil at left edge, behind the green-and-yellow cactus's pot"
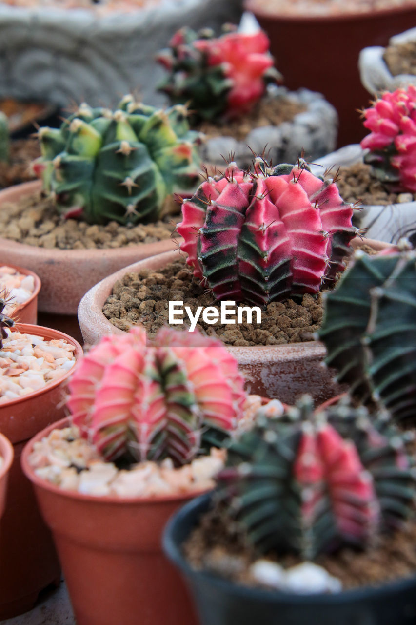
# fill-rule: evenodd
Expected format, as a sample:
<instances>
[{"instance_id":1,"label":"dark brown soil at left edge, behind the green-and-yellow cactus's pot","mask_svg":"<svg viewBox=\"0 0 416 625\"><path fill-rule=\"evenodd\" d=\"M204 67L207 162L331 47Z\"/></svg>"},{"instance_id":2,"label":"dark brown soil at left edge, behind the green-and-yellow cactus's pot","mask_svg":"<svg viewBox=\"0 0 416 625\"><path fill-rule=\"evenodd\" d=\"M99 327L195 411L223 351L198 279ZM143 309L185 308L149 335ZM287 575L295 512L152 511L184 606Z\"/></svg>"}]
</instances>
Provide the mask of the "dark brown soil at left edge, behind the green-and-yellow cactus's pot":
<instances>
[{"instance_id":1,"label":"dark brown soil at left edge, behind the green-and-yellow cactus's pot","mask_svg":"<svg viewBox=\"0 0 416 625\"><path fill-rule=\"evenodd\" d=\"M41 156L41 152L37 139L11 141L10 162L0 163L0 189L34 180L36 176L30 166L38 156Z\"/></svg>"}]
</instances>

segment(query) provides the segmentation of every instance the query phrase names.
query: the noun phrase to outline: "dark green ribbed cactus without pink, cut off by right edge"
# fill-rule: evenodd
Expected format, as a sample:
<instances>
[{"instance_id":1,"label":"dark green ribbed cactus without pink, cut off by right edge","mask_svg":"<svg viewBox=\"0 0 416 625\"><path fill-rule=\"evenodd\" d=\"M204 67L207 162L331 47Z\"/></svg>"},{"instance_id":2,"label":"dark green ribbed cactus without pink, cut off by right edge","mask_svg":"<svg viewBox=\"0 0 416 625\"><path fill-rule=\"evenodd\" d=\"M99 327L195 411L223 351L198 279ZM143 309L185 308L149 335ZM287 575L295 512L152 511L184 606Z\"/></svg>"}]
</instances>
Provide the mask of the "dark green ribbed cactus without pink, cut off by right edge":
<instances>
[{"instance_id":1,"label":"dark green ribbed cactus without pink, cut off by right edge","mask_svg":"<svg viewBox=\"0 0 416 625\"><path fill-rule=\"evenodd\" d=\"M416 254L355 254L325 299L319 338L339 382L416 423Z\"/></svg>"}]
</instances>

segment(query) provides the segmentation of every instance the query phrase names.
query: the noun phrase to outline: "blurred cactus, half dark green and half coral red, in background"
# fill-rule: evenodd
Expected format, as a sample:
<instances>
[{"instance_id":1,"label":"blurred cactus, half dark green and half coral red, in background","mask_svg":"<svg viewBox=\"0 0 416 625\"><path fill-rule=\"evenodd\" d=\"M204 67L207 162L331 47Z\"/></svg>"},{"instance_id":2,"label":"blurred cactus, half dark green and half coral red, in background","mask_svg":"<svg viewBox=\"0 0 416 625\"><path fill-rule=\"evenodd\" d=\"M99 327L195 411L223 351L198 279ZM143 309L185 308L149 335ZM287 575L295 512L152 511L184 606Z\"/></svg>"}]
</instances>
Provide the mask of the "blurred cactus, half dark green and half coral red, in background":
<instances>
[{"instance_id":1,"label":"blurred cactus, half dark green and half coral red, in background","mask_svg":"<svg viewBox=\"0 0 416 625\"><path fill-rule=\"evenodd\" d=\"M169 71L159 87L172 104L189 104L197 119L218 121L250 111L267 83L280 81L264 31L237 32L227 24L215 37L211 29L182 28L157 61Z\"/></svg>"}]
</instances>

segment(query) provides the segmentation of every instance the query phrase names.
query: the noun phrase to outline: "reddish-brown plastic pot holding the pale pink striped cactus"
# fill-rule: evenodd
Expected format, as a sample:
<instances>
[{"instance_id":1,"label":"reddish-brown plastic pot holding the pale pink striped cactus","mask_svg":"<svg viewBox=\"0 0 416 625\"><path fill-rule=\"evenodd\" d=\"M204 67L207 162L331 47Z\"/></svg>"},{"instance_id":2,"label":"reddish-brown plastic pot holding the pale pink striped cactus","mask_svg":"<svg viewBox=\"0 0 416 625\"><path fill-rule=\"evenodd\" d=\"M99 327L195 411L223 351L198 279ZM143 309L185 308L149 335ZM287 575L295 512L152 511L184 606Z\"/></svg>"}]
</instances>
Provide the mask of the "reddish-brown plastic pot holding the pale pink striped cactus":
<instances>
[{"instance_id":1,"label":"reddish-brown plastic pot holding the pale pink striped cactus","mask_svg":"<svg viewBox=\"0 0 416 625\"><path fill-rule=\"evenodd\" d=\"M181 577L162 553L167 519L190 495L94 497L63 491L36 476L22 453L42 515L51 528L77 625L197 625Z\"/></svg>"}]
</instances>

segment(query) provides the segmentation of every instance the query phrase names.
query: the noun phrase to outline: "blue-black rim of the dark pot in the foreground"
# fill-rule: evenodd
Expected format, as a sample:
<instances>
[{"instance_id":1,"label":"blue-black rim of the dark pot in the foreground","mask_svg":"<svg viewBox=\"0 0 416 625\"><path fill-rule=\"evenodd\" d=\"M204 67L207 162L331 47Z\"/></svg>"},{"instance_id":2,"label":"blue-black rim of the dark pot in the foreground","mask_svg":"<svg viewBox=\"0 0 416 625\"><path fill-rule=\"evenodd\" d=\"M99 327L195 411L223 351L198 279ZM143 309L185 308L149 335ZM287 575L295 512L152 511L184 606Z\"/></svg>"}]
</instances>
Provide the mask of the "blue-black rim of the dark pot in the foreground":
<instances>
[{"instance_id":1,"label":"blue-black rim of the dark pot in the foreground","mask_svg":"<svg viewBox=\"0 0 416 625\"><path fill-rule=\"evenodd\" d=\"M207 508L207 504L210 501L211 493L207 492L197 497L196 499L192 499L192 501L187 502L182 506L177 512L175 512L171 519L166 524L163 533L163 550L169 559L174 562L174 564L181 569L182 573L185 574L186 577L199 577L199 579L203 580L206 583L209 583L211 586L217 587L222 592L229 592L230 594L243 597L249 596L250 599L257 600L259 602L265 603L275 603L280 602L284 604L337 604L339 602L345 601L360 601L362 599L377 599L380 594L385 594L389 592L393 594L398 589L405 589L407 587L416 587L416 573L411 577L402 577L401 579L395 579L394 581L385 582L380 586L361 586L359 588L351 588L342 590L340 592L334 594L327 593L319 593L319 594L296 594L292 592L284 592L277 590L266 590L263 588L255 588L249 586L243 586L242 584L237 584L236 582L232 582L228 579L224 579L217 575L214 575L206 570L197 570L194 569L189 562L187 562L186 558L182 555L181 545L177 544L177 541L174 539L172 534L176 526L181 524L184 519L187 519L189 516L195 517L200 512L204 512ZM195 526L195 525L194 525Z\"/></svg>"}]
</instances>

